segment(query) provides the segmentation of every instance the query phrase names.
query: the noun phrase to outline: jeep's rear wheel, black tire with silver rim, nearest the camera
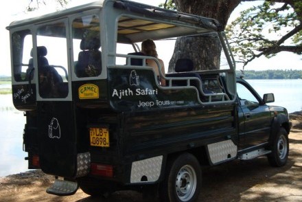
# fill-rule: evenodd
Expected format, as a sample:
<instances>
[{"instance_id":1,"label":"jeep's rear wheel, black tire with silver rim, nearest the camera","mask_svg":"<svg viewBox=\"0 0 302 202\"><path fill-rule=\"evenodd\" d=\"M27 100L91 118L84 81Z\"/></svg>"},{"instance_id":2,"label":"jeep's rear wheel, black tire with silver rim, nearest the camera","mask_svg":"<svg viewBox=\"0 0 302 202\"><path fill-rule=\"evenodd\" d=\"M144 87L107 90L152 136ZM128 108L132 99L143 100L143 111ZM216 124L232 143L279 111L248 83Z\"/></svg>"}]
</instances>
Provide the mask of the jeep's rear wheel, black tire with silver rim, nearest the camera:
<instances>
[{"instance_id":1,"label":"jeep's rear wheel, black tire with silver rim, nearest the camera","mask_svg":"<svg viewBox=\"0 0 302 202\"><path fill-rule=\"evenodd\" d=\"M201 187L201 169L194 155L183 153L167 161L165 179L159 186L161 201L195 201Z\"/></svg>"}]
</instances>

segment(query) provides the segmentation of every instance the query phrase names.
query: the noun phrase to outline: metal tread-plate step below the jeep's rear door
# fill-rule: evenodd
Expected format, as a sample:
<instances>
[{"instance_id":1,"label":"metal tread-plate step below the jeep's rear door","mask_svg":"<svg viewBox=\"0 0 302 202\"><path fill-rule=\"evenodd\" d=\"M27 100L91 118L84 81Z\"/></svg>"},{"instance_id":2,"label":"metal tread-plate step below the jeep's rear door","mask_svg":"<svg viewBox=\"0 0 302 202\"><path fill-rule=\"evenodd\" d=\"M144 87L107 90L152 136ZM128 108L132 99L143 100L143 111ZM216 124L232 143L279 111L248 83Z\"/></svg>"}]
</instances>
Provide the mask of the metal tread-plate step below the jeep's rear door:
<instances>
[{"instance_id":1,"label":"metal tread-plate step below the jeep's rear door","mask_svg":"<svg viewBox=\"0 0 302 202\"><path fill-rule=\"evenodd\" d=\"M56 179L54 184L50 188L47 188L46 192L57 196L69 196L75 194L78 188L78 183L75 181Z\"/></svg>"}]
</instances>

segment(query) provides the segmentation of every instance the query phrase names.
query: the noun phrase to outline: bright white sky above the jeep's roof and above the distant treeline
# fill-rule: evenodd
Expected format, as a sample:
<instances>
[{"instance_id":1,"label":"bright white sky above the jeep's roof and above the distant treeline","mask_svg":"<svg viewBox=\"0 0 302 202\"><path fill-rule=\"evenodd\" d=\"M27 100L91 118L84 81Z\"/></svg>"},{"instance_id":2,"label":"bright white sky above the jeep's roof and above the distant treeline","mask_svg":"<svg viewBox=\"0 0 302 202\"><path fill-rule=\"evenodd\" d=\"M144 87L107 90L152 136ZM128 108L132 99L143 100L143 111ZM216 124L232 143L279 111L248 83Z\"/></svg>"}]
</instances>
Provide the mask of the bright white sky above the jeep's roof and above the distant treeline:
<instances>
[{"instance_id":1,"label":"bright white sky above the jeep's roof and above the distant treeline","mask_svg":"<svg viewBox=\"0 0 302 202\"><path fill-rule=\"evenodd\" d=\"M81 5L84 3L89 3L95 0L71 0L67 5L68 8L74 7L76 5ZM159 5L164 3L165 0L133 0L140 3L146 3L150 5ZM51 5L47 3L47 6L40 8L36 12L25 14L25 8L27 7L29 0L10 0L7 1L6 9L0 12L0 55L1 55L1 66L0 66L0 76L7 75L10 76L10 38L9 32L5 29L6 26L10 25L12 21L27 19L32 16L39 16L41 14L46 14L48 12L55 12L56 5ZM49 1L47 1L49 2ZM239 16L240 11L250 8L255 5L255 2L244 2L239 5L231 14L229 22ZM237 69L242 69L240 65L237 65ZM251 63L244 67L245 70L267 70L267 69L299 69L302 70L302 57L296 54L283 52L277 54L277 56L270 59L264 56L253 60Z\"/></svg>"}]
</instances>

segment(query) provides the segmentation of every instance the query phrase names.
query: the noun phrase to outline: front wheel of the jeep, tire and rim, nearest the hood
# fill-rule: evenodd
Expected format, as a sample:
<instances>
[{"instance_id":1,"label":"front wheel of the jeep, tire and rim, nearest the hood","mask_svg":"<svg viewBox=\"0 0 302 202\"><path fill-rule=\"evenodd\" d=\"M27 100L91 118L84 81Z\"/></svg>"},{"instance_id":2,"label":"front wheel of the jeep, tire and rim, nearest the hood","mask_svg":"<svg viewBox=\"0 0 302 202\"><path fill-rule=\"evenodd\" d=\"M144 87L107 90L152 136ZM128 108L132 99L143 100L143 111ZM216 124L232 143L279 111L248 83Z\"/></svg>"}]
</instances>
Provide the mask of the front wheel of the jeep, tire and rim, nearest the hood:
<instances>
[{"instance_id":1,"label":"front wheel of the jeep, tire and rim, nearest the hood","mask_svg":"<svg viewBox=\"0 0 302 202\"><path fill-rule=\"evenodd\" d=\"M268 155L270 166L281 167L288 161L290 145L288 142L288 133L284 128L280 128L275 139L272 140L272 153Z\"/></svg>"}]
</instances>

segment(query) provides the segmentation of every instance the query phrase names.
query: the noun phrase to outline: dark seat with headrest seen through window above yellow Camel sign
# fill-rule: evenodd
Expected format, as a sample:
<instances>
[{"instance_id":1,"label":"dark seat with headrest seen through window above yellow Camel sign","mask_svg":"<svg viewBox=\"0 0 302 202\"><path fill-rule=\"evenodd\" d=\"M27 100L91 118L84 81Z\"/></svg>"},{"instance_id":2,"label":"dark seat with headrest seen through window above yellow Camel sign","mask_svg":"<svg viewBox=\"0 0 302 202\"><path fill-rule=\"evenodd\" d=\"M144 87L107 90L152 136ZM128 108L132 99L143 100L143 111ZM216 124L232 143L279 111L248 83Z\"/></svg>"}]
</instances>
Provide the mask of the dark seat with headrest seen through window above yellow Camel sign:
<instances>
[{"instance_id":1,"label":"dark seat with headrest seen through window above yellow Camel sign","mask_svg":"<svg viewBox=\"0 0 302 202\"><path fill-rule=\"evenodd\" d=\"M102 71L102 52L99 38L83 38L80 43L82 52L78 55L75 74L78 77L98 76Z\"/></svg>"}]
</instances>

